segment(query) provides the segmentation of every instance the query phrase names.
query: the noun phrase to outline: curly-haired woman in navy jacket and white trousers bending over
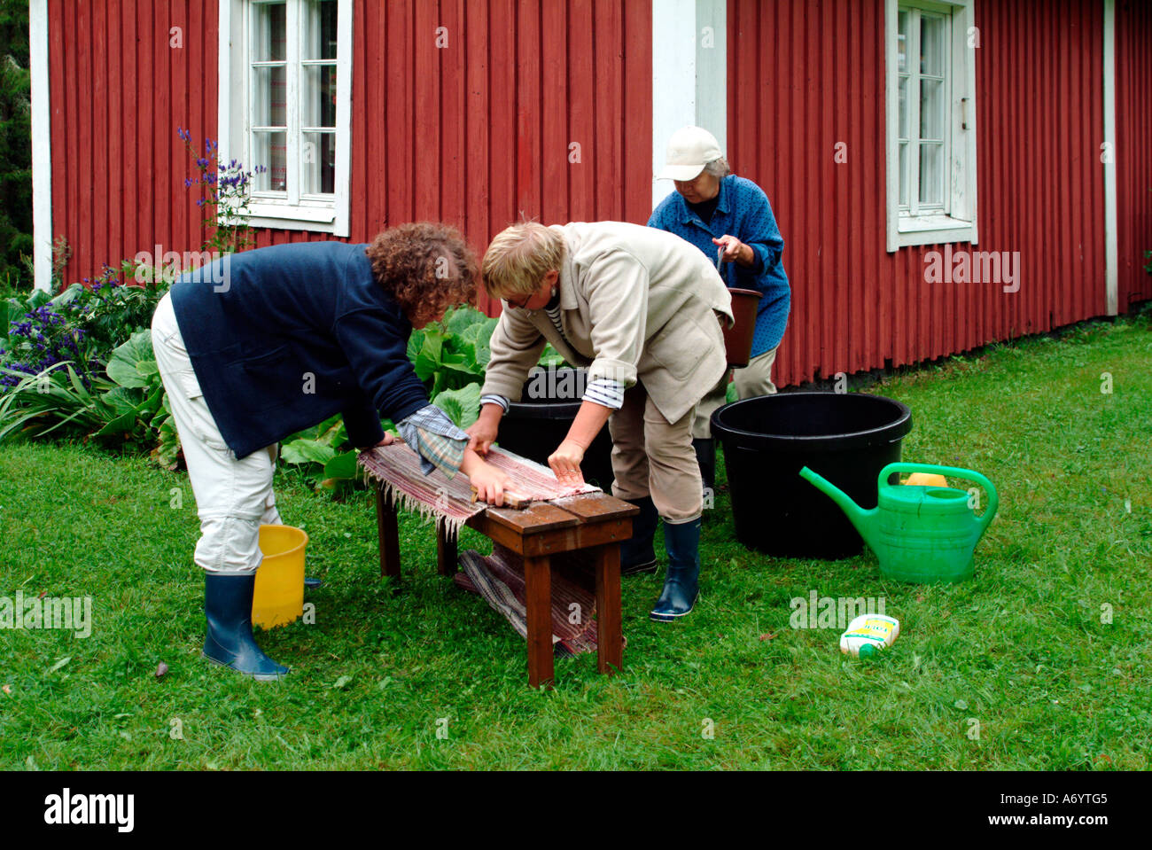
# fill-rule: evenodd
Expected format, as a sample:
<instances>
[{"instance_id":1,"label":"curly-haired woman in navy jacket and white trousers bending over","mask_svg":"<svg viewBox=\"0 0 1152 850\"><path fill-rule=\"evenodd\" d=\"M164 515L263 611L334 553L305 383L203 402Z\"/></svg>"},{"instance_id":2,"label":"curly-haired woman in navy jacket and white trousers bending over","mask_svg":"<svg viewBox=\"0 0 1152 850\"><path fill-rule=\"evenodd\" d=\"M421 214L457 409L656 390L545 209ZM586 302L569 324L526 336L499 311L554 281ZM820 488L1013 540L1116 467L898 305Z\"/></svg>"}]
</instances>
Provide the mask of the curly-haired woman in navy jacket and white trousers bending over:
<instances>
[{"instance_id":1,"label":"curly-haired woman in navy jacket and white trousers bending over","mask_svg":"<svg viewBox=\"0 0 1152 850\"><path fill-rule=\"evenodd\" d=\"M196 495L205 571L204 655L258 680L288 673L252 639L259 526L279 523L279 440L342 413L359 448L391 442L392 419L423 458L502 502L507 477L429 403L408 336L476 293L461 235L404 225L370 245L304 242L230 255L185 274L160 301L152 344Z\"/></svg>"}]
</instances>

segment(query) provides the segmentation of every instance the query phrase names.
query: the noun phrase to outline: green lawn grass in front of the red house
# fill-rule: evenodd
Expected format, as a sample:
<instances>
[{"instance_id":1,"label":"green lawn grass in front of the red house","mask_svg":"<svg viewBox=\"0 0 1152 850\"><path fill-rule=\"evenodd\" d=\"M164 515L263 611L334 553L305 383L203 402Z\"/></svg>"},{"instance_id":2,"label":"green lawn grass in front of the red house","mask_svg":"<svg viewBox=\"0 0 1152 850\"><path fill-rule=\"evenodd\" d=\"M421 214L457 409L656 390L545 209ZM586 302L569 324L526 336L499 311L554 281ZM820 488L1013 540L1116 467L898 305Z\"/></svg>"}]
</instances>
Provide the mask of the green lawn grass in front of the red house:
<instances>
[{"instance_id":1,"label":"green lawn grass in front of the red house","mask_svg":"<svg viewBox=\"0 0 1152 850\"><path fill-rule=\"evenodd\" d=\"M1147 314L1078 326L874 387L914 411L905 460L996 483L975 582L886 584L871 553L749 552L722 493L697 610L652 623L661 578L626 579L622 675L561 659L552 692L528 689L507 623L435 575L427 526L404 518L392 595L367 494L335 503L283 480L281 511L326 579L316 623L258 636L293 667L283 683L210 666L187 477L76 445L6 445L0 595L90 594L94 631L0 631L0 768L1146 769L1149 331ZM468 530L462 546L486 551ZM838 629L789 628L789 600L812 590L884 597L900 639L852 661Z\"/></svg>"}]
</instances>

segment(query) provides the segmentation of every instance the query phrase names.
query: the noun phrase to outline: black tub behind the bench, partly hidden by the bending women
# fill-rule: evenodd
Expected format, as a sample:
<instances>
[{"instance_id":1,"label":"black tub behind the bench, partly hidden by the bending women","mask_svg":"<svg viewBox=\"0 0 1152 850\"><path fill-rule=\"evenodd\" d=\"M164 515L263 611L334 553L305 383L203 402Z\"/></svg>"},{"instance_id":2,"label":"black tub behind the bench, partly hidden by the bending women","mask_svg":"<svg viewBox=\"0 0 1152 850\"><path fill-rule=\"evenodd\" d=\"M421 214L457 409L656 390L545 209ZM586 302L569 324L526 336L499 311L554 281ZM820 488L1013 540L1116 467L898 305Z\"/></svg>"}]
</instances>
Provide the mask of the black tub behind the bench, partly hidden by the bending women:
<instances>
[{"instance_id":1,"label":"black tub behind the bench, partly hidden by the bending women","mask_svg":"<svg viewBox=\"0 0 1152 850\"><path fill-rule=\"evenodd\" d=\"M571 372L571 375L566 375ZM497 443L537 463L548 465L548 455L568 437L584 395L584 370L554 370L552 380L529 378L518 402L508 405L500 420ZM574 375L578 374L578 378ZM607 425L584 451L584 480L612 493L612 438Z\"/></svg>"}]
</instances>

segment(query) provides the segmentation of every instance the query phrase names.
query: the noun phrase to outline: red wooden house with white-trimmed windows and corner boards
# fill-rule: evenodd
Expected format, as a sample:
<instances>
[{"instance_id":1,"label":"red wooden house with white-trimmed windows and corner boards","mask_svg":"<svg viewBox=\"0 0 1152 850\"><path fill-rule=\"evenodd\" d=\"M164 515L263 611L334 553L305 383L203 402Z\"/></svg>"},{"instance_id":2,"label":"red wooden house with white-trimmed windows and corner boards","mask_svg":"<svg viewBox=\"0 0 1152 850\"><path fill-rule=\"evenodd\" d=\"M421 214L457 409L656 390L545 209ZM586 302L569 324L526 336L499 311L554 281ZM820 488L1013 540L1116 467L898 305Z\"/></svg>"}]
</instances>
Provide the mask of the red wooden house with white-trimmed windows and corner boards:
<instances>
[{"instance_id":1,"label":"red wooden house with white-trimmed windows and corner boards","mask_svg":"<svg viewBox=\"0 0 1152 850\"><path fill-rule=\"evenodd\" d=\"M778 381L1152 297L1139 0L31 0L37 282L204 238L176 128L262 164L258 244L643 223L708 127L787 241ZM1144 92L1142 96L1140 92ZM1143 105L1143 106L1142 106ZM485 304L483 306L491 308Z\"/></svg>"}]
</instances>

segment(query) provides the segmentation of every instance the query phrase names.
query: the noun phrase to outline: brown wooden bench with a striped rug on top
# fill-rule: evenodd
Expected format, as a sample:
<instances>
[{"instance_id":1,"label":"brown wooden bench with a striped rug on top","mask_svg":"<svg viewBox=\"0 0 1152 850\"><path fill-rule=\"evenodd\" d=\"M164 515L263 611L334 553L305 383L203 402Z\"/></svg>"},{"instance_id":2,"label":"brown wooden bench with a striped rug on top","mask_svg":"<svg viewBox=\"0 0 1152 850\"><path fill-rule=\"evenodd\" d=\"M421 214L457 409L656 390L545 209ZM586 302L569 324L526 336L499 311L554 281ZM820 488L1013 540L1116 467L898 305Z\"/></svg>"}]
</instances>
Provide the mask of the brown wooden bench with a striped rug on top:
<instances>
[{"instance_id":1,"label":"brown wooden bench with a striped rug on top","mask_svg":"<svg viewBox=\"0 0 1152 850\"><path fill-rule=\"evenodd\" d=\"M524 510L487 508L465 524L524 559L528 614L528 683L551 686L552 650L551 555L590 549L596 562L596 637L600 673L623 663L620 610L620 544L632 534L631 517L639 508L605 493L535 502ZM400 531L396 507L382 485L376 487L376 518L380 542L380 575L400 577ZM437 567L441 576L457 569L456 536L437 529Z\"/></svg>"}]
</instances>

